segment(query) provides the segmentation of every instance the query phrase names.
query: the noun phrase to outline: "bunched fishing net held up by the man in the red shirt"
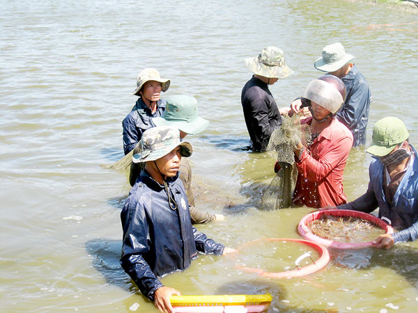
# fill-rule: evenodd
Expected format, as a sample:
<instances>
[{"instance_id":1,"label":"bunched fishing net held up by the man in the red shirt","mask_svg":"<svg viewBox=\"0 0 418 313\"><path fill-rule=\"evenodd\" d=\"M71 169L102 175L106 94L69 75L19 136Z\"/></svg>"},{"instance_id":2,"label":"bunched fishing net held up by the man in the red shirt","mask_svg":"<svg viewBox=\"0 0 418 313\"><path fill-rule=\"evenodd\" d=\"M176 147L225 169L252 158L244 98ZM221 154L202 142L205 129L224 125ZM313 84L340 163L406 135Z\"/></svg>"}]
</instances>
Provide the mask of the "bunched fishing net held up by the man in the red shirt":
<instances>
[{"instance_id":1,"label":"bunched fishing net held up by the man in the red shirt","mask_svg":"<svg viewBox=\"0 0 418 313\"><path fill-rule=\"evenodd\" d=\"M300 115L284 115L281 127L273 131L267 147L268 151L277 152L280 169L263 192L261 209L271 211L291 206L297 179L293 148L299 143L308 148L311 141L311 129L300 124Z\"/></svg>"}]
</instances>

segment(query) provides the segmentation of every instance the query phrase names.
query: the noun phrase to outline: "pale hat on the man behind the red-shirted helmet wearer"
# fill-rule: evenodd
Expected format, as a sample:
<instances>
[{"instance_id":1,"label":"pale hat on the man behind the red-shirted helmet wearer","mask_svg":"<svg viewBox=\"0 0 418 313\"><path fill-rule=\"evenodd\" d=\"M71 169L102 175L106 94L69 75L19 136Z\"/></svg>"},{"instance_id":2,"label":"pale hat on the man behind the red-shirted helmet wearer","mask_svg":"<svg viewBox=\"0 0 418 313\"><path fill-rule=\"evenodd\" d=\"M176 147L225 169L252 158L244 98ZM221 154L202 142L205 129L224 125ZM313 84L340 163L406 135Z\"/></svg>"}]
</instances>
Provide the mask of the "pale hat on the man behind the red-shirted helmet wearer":
<instances>
[{"instance_id":1,"label":"pale hat on the man behind the red-shirted helmet wearer","mask_svg":"<svg viewBox=\"0 0 418 313\"><path fill-rule=\"evenodd\" d=\"M353 60L354 56L346 54L343 45L340 42L335 42L325 46L323 56L314 62L314 67L323 72L335 72Z\"/></svg>"}]
</instances>

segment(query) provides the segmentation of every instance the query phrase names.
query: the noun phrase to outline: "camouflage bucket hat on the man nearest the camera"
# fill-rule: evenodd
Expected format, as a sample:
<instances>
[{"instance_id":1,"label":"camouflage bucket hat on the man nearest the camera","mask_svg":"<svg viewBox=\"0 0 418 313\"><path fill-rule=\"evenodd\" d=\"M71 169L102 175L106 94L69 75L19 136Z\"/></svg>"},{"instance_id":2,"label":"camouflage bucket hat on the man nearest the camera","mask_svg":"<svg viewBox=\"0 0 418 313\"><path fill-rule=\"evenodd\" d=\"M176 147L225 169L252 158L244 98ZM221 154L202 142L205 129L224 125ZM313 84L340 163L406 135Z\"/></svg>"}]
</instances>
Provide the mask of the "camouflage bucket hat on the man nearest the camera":
<instances>
[{"instance_id":1,"label":"camouflage bucket hat on the man nearest the camera","mask_svg":"<svg viewBox=\"0 0 418 313\"><path fill-rule=\"evenodd\" d=\"M180 142L180 131L174 127L157 126L144 131L139 141L139 153L132 157L133 163L155 161L164 157L180 145L182 157L190 157L193 153L192 144Z\"/></svg>"}]
</instances>

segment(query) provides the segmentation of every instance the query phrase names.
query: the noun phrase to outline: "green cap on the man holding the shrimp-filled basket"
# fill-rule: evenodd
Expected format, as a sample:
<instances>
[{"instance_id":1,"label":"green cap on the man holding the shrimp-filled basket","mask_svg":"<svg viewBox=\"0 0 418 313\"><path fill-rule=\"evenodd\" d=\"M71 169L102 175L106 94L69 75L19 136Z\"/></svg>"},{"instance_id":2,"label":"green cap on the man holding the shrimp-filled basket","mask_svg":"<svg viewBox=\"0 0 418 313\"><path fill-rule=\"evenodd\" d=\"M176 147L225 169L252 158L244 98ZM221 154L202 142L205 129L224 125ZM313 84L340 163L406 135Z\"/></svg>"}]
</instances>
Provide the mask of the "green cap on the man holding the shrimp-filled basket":
<instances>
[{"instance_id":1,"label":"green cap on the man holding the shrimp-filled basket","mask_svg":"<svg viewBox=\"0 0 418 313\"><path fill-rule=\"evenodd\" d=\"M408 129L402 120L393 117L382 118L373 126L373 142L366 152L383 157L394 150L398 143L403 143L408 138Z\"/></svg>"}]
</instances>

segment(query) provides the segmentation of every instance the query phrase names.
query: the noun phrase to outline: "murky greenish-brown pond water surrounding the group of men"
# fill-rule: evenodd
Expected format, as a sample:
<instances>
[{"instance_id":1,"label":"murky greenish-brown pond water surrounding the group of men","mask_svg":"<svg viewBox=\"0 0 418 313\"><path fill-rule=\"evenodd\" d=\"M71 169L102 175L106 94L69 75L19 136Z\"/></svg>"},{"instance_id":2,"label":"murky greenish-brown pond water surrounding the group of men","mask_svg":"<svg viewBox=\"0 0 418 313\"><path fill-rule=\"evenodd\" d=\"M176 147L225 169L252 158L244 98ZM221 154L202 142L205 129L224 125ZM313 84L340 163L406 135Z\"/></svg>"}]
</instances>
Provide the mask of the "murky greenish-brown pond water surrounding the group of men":
<instances>
[{"instance_id":1,"label":"murky greenish-brown pond water surrounding the group of men","mask_svg":"<svg viewBox=\"0 0 418 313\"><path fill-rule=\"evenodd\" d=\"M244 58L267 45L284 49L295 70L271 88L287 106L320 75L313 62L322 48L343 42L373 93L369 141L373 122L394 115L418 145L416 14L325 0L23 0L1 9L1 312L155 312L118 265L127 174L99 166L123 154L121 120L144 67L171 79L167 95L194 95L210 120L189 138L194 172L253 200L274 160L240 150L248 141L240 91L251 77ZM366 190L369 161L362 149L350 153L350 200ZM311 211L250 204L202 204L227 218L199 229L231 247L298 238L296 225ZM277 281L208 255L162 281L183 294L270 292L270 312L414 312L417 259L416 243L332 252L323 271Z\"/></svg>"}]
</instances>

